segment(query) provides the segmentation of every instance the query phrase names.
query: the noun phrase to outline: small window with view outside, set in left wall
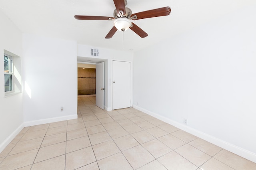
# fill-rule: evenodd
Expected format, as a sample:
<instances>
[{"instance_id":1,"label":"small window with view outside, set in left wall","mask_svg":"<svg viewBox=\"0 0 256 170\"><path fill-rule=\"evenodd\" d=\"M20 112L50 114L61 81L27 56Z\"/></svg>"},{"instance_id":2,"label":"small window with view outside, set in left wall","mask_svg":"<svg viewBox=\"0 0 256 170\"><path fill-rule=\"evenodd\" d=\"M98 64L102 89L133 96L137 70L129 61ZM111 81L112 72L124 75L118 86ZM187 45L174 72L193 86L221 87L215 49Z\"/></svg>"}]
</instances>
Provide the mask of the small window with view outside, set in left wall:
<instances>
[{"instance_id":1,"label":"small window with view outside, set in left wall","mask_svg":"<svg viewBox=\"0 0 256 170\"><path fill-rule=\"evenodd\" d=\"M13 91L13 61L10 55L4 54L4 92Z\"/></svg>"}]
</instances>

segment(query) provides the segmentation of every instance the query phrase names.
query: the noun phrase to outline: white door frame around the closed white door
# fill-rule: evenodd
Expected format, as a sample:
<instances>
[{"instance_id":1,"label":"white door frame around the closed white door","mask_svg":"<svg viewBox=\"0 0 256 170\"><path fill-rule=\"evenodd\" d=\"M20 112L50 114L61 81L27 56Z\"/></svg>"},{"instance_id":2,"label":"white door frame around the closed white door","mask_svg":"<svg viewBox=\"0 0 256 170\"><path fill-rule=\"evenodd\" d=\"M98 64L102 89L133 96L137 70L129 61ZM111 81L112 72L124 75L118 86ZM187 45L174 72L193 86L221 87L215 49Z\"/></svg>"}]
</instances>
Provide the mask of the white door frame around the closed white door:
<instances>
[{"instance_id":1,"label":"white door frame around the closed white door","mask_svg":"<svg viewBox=\"0 0 256 170\"><path fill-rule=\"evenodd\" d=\"M111 73L111 101L112 101L112 105L111 105L111 107L112 107L112 110L113 110L113 61L121 61L121 62L129 62L130 63L130 65L131 65L131 70L130 70L130 73L131 73L131 76L130 76L130 87L131 87L131 89L130 89L130 107L132 107L132 104L133 104L133 62L132 61L130 61L130 60L120 60L120 59L112 59L111 60L111 71L112 71L112 73Z\"/></svg>"}]
</instances>

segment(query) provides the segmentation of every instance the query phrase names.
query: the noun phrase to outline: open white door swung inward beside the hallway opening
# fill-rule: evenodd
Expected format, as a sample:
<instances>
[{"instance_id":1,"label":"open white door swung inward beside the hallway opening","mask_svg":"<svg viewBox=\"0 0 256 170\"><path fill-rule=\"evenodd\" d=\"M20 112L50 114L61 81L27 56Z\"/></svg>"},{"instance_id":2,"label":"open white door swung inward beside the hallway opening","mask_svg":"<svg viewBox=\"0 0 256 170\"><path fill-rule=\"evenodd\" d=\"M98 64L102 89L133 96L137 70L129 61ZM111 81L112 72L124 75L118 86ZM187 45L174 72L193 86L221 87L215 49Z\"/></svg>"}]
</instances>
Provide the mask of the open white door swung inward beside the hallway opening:
<instances>
[{"instance_id":1,"label":"open white door swung inward beside the hallway opening","mask_svg":"<svg viewBox=\"0 0 256 170\"><path fill-rule=\"evenodd\" d=\"M96 64L96 106L104 109L104 62Z\"/></svg>"}]
</instances>

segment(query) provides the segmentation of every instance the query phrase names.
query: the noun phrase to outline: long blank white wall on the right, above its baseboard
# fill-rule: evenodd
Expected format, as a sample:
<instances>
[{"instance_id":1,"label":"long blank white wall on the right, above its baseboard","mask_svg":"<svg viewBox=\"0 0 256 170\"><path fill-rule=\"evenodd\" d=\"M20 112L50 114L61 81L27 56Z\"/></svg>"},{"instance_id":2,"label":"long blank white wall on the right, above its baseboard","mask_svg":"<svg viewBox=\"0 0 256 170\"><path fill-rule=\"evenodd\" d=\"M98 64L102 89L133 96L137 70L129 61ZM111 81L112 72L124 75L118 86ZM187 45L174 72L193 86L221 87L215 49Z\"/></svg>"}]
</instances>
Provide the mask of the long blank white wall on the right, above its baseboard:
<instances>
[{"instance_id":1,"label":"long blank white wall on the right, above its baseboard","mask_svg":"<svg viewBox=\"0 0 256 170\"><path fill-rule=\"evenodd\" d=\"M134 107L256 162L255 11L136 52Z\"/></svg>"}]
</instances>

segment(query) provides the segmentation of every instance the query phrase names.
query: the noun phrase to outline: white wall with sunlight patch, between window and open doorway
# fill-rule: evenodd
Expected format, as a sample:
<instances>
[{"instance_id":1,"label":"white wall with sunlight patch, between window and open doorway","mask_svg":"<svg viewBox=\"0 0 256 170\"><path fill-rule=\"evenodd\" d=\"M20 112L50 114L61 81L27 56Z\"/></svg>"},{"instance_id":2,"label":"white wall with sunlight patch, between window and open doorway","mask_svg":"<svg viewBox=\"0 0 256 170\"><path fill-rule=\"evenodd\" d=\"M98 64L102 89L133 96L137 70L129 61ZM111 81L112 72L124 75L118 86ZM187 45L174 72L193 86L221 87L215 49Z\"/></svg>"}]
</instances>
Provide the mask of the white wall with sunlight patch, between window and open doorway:
<instances>
[{"instance_id":1,"label":"white wall with sunlight patch, between window and open doorway","mask_svg":"<svg viewBox=\"0 0 256 170\"><path fill-rule=\"evenodd\" d=\"M25 126L75 119L76 42L24 34L23 57Z\"/></svg>"}]
</instances>

